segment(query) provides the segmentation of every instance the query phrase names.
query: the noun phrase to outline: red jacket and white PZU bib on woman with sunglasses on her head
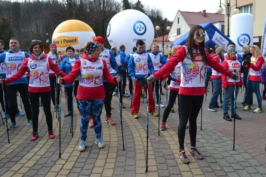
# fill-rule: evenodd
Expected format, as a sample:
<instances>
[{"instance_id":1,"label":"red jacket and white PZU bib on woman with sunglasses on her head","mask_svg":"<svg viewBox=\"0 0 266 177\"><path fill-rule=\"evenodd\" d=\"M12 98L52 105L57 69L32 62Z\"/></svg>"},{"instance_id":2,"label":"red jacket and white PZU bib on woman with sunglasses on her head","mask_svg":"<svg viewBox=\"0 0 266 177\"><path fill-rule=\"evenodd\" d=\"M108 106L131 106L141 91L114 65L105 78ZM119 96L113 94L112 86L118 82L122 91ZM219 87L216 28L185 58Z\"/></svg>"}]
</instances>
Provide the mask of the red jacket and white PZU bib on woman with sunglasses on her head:
<instances>
[{"instance_id":1,"label":"red jacket and white PZU bib on woman with sunglasses on her head","mask_svg":"<svg viewBox=\"0 0 266 177\"><path fill-rule=\"evenodd\" d=\"M29 61L33 61L32 62L33 64L31 64L31 62L29 63ZM41 65L36 64L39 62L42 62L43 64L41 64ZM33 92L33 93L49 92L49 91L51 91L50 81L49 81L49 77L48 77L48 71L50 68L55 72L55 74L58 75L58 73L61 72L63 77L66 76L66 74L64 72L62 72L58 68L58 66L53 63L51 58L47 58L46 55L42 55L41 60L37 60L34 56L30 55L29 58L26 58L24 60L22 67L17 71L16 74L14 74L10 78L5 79L5 83L9 84L11 82L14 82L14 81L20 79L22 76L24 76L26 71L29 70L30 71L30 78L31 78L31 76L35 77L34 78L35 80L34 81L32 80L32 84L29 84L28 91ZM39 71L45 71L45 70L47 71L47 73L39 72ZM38 79L39 79L39 82L37 82Z\"/></svg>"}]
</instances>

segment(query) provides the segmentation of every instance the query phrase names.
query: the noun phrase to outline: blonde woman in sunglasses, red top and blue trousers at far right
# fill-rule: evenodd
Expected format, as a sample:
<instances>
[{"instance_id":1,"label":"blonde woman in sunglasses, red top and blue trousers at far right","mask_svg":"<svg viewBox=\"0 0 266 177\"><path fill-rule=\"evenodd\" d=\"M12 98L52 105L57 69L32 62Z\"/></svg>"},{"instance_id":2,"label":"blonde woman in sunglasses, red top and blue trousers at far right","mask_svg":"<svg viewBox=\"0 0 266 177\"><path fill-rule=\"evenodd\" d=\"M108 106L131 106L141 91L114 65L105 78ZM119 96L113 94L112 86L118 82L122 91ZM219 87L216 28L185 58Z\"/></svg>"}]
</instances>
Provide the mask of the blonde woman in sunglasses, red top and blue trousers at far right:
<instances>
[{"instance_id":1,"label":"blonde woman in sunglasses, red top and blue trousers at far right","mask_svg":"<svg viewBox=\"0 0 266 177\"><path fill-rule=\"evenodd\" d=\"M258 101L258 108L256 108L253 112L254 113L261 113L263 112L262 109L262 98L259 92L259 83L260 83L260 73L261 67L264 63L264 59L262 57L261 51L257 45L253 45L250 47L250 53L252 54L251 60L247 61L246 68L249 69L249 76L247 81L247 106L245 106L244 111L248 111L251 109L251 95L252 95L252 88L256 94L257 101Z\"/></svg>"}]
</instances>

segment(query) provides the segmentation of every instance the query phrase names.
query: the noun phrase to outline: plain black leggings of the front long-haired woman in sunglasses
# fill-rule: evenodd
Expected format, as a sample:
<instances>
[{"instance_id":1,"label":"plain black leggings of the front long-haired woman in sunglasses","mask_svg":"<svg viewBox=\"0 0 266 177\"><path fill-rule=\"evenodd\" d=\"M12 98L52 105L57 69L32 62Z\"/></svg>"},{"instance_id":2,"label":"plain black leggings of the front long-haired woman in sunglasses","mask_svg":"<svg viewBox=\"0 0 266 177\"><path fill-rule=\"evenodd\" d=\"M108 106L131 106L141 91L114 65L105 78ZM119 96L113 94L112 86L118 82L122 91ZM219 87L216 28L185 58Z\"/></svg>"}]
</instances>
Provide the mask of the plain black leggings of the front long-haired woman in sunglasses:
<instances>
[{"instance_id":1,"label":"plain black leggings of the front long-haired woman in sunglasses","mask_svg":"<svg viewBox=\"0 0 266 177\"><path fill-rule=\"evenodd\" d=\"M196 146L197 117L202 106L204 95L179 95L181 118L178 126L179 149L184 150L186 125L189 120L190 146Z\"/></svg>"}]
</instances>

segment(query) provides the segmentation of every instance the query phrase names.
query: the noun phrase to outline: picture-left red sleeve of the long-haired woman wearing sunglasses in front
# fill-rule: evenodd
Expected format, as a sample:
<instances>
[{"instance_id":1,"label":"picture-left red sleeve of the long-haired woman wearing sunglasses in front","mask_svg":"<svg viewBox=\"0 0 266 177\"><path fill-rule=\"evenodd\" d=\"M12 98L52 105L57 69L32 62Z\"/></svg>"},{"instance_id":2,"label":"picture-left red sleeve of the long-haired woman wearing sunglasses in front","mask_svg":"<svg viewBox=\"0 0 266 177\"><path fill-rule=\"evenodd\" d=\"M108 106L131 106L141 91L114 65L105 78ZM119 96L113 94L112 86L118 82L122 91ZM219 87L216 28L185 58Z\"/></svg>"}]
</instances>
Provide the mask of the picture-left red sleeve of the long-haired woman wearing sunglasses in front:
<instances>
[{"instance_id":1,"label":"picture-left red sleeve of the long-haired woman wearing sunglasses in front","mask_svg":"<svg viewBox=\"0 0 266 177\"><path fill-rule=\"evenodd\" d=\"M156 80L158 80L161 77L163 77L163 75L165 74L165 71L170 73L173 70L175 70L175 66L179 62L184 61L185 60L185 56L186 56L185 47L184 46L179 47L177 49L177 51L175 52L175 54L171 57L171 59L168 62L166 62L158 71L153 73L153 75L156 78Z\"/></svg>"}]
</instances>

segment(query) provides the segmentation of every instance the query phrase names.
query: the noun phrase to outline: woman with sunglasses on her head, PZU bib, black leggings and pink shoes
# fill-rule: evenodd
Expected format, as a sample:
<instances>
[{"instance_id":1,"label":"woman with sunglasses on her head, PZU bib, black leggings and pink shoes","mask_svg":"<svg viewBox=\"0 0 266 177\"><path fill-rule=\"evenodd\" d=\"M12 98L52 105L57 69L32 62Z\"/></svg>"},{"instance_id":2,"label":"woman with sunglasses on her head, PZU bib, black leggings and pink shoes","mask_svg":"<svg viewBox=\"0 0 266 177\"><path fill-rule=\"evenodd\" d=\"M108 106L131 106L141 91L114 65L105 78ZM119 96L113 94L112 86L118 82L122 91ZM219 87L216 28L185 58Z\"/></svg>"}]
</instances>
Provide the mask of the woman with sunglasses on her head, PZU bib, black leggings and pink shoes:
<instances>
[{"instance_id":1,"label":"woman with sunglasses on her head, PZU bib, black leggings and pink shoes","mask_svg":"<svg viewBox=\"0 0 266 177\"><path fill-rule=\"evenodd\" d=\"M21 69L16 74L7 79L0 79L0 83L9 84L20 79L26 71L29 70L29 99L32 107L32 137L31 140L35 141L38 137L38 116L39 116L39 98L41 96L43 103L43 111L46 117L48 127L48 135L50 139L55 138L52 125L51 113L51 87L49 81L50 68L56 73L62 72L57 65L53 63L51 58L48 58L43 53L41 43L39 41L32 42L30 46L31 55L24 60ZM65 73L62 73L66 76Z\"/></svg>"}]
</instances>

